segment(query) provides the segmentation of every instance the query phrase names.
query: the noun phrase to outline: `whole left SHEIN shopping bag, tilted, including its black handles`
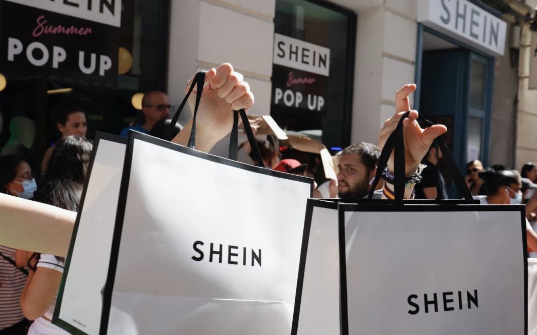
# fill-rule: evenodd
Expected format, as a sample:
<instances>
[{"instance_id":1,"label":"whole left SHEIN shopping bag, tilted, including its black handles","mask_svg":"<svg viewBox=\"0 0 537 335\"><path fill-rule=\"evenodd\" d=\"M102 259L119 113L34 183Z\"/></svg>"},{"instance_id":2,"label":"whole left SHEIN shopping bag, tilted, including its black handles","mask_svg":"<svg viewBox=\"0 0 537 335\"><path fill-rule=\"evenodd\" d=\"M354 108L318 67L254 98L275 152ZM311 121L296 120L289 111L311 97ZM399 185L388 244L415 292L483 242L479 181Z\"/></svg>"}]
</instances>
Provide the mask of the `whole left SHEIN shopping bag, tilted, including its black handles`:
<instances>
[{"instance_id":1,"label":"whole left SHEIN shopping bag, tilted, including its black handles","mask_svg":"<svg viewBox=\"0 0 537 335\"><path fill-rule=\"evenodd\" d=\"M313 180L195 151L194 134L191 148L98 135L54 324L88 335L290 331Z\"/></svg>"}]
</instances>

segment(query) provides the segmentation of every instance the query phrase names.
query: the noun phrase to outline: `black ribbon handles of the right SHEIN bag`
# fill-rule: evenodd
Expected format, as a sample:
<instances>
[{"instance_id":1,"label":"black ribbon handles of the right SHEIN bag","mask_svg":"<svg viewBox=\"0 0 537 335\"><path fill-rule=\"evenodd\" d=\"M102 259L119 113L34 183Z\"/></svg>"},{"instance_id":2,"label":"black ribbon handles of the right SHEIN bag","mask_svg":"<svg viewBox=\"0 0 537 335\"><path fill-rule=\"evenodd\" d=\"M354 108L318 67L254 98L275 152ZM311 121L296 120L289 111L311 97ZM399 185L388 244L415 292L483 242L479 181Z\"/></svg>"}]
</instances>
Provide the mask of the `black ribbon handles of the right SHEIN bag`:
<instances>
[{"instance_id":1,"label":"black ribbon handles of the right SHEIN bag","mask_svg":"<svg viewBox=\"0 0 537 335\"><path fill-rule=\"evenodd\" d=\"M404 183L405 183L405 171L404 171L404 140L403 140L403 120L408 118L409 112L403 114L397 127L390 134L384 148L380 154L378 169L375 174L375 179L371 186L371 191L369 192L369 199L373 198L373 192L375 191L376 185L379 183L380 178L382 177L382 172L384 172L383 167L387 165L388 159L391 155L391 152L394 151L394 193L395 193L395 203L401 204L403 202L404 195ZM434 125L431 121L425 119L422 115L418 116L417 121L422 123L422 125L431 127ZM462 176L459 166L455 162L451 151L449 151L446 141L444 140L444 135L438 136L433 141L434 147L437 149L437 159L438 159L438 149L442 152L444 156L444 162L447 164L453 183L457 187L457 190L462 194L463 198L467 203L474 203L474 199L466 185L465 178ZM440 192L439 192L440 191ZM440 169L438 169L437 177L437 198L436 200L442 199L442 192L440 188Z\"/></svg>"}]
</instances>

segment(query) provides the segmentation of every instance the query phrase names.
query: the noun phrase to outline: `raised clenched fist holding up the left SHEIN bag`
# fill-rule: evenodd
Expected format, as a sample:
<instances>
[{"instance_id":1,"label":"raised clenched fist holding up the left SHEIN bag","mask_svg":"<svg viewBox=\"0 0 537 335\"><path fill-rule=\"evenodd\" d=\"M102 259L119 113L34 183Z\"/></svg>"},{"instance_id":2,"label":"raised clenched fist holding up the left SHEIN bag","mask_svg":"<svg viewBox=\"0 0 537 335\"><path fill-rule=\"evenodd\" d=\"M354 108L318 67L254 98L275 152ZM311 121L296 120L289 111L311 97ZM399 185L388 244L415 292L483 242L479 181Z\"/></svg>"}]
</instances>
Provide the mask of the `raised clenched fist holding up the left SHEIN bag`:
<instances>
[{"instance_id":1,"label":"raised clenched fist holding up the left SHEIN bag","mask_svg":"<svg viewBox=\"0 0 537 335\"><path fill-rule=\"evenodd\" d=\"M185 94L190 88L194 76L185 86ZM248 110L253 105L253 94L250 85L244 81L243 75L233 70L229 63L220 65L218 69L211 69L205 74L205 86L202 91L198 115L196 120L196 149L209 151L233 127L233 111L244 108ZM196 89L188 98L190 110L194 112ZM186 145L192 120L180 132L173 142Z\"/></svg>"}]
</instances>

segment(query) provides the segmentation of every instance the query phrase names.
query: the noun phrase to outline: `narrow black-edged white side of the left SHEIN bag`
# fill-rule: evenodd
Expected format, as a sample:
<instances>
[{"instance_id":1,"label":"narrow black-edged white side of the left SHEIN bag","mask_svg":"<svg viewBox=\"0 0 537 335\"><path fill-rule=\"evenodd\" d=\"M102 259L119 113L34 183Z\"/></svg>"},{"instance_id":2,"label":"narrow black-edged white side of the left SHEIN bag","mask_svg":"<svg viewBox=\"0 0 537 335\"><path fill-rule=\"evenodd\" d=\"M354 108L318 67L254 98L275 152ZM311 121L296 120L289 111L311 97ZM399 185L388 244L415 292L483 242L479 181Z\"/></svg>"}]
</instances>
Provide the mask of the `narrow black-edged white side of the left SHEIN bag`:
<instances>
[{"instance_id":1,"label":"narrow black-edged white side of the left SHEIN bag","mask_svg":"<svg viewBox=\"0 0 537 335\"><path fill-rule=\"evenodd\" d=\"M98 335L127 139L97 132L53 323Z\"/></svg>"}]
</instances>

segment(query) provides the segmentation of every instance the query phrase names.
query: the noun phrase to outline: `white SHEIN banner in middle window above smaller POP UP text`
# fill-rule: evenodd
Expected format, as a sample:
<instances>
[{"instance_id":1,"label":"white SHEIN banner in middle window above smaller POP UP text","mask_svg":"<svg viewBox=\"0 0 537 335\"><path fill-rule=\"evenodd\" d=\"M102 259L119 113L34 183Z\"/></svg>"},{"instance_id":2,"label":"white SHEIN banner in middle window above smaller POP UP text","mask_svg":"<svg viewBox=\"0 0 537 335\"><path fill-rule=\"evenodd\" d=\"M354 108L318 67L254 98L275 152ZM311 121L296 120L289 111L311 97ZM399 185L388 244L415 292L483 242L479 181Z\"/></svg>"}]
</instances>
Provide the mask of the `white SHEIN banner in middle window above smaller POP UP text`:
<instances>
[{"instance_id":1,"label":"white SHEIN banner in middle window above smaller POP UP text","mask_svg":"<svg viewBox=\"0 0 537 335\"><path fill-rule=\"evenodd\" d=\"M274 34L273 62L328 77L330 74L330 49Z\"/></svg>"}]
</instances>

